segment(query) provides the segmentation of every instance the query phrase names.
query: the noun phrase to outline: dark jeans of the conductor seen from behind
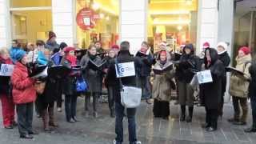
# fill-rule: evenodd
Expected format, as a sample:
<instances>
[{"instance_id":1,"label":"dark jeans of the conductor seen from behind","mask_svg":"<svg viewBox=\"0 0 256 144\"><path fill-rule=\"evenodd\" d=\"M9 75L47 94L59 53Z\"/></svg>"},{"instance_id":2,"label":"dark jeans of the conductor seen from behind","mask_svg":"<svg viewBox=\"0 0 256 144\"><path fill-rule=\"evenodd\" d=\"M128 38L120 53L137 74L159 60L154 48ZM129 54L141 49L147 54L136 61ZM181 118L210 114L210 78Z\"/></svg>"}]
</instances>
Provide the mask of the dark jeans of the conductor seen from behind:
<instances>
[{"instance_id":1,"label":"dark jeans of the conductor seen from behind","mask_svg":"<svg viewBox=\"0 0 256 144\"><path fill-rule=\"evenodd\" d=\"M124 111L125 107L122 106L122 104L116 102L115 103L115 133L117 134L117 137L115 140L117 141L117 144L122 144L123 142L123 126L122 126L122 120L124 117ZM135 114L136 114L136 108L127 109L127 118L128 118L128 131L129 131L129 141L130 144L134 144L137 142L137 136L136 136L136 122L135 122Z\"/></svg>"}]
</instances>

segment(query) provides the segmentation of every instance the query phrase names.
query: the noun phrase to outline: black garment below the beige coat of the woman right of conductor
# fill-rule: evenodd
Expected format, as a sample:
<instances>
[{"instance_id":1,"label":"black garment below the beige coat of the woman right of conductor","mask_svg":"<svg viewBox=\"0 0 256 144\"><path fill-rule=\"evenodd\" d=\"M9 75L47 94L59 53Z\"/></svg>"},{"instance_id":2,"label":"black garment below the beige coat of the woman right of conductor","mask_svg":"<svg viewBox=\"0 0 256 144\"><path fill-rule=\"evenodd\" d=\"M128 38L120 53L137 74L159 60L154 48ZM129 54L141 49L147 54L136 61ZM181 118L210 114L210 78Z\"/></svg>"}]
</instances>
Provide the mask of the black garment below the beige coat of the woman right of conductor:
<instances>
[{"instance_id":1,"label":"black garment below the beige coat of the woman right of conductor","mask_svg":"<svg viewBox=\"0 0 256 144\"><path fill-rule=\"evenodd\" d=\"M170 102L158 101L154 98L153 113L154 117L168 117L170 115Z\"/></svg>"}]
</instances>

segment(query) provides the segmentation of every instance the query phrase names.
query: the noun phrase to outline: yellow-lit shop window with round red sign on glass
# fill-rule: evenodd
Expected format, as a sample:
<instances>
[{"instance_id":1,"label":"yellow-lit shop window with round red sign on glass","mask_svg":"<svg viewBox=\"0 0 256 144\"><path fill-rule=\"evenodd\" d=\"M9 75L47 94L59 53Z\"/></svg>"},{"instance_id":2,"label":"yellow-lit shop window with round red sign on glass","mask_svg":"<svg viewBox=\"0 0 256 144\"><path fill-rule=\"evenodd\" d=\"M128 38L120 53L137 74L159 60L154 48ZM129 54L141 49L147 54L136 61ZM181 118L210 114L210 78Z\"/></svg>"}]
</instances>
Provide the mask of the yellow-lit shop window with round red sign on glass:
<instances>
[{"instance_id":1,"label":"yellow-lit shop window with round red sign on glass","mask_svg":"<svg viewBox=\"0 0 256 144\"><path fill-rule=\"evenodd\" d=\"M81 48L100 41L107 50L118 41L118 0L77 0L77 42Z\"/></svg>"}]
</instances>

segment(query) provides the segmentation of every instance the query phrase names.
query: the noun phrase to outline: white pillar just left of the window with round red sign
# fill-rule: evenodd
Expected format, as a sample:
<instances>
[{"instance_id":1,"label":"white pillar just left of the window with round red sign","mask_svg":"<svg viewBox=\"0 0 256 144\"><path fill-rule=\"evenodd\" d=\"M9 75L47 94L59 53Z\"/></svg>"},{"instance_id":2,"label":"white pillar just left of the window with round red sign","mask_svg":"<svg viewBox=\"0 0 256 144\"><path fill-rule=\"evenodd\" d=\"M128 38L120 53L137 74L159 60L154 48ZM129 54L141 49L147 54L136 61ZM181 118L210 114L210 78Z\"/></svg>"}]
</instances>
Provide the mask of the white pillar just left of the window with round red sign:
<instances>
[{"instance_id":1,"label":"white pillar just left of the window with round red sign","mask_svg":"<svg viewBox=\"0 0 256 144\"><path fill-rule=\"evenodd\" d=\"M74 42L74 0L52 0L53 31L57 42L66 42L73 46Z\"/></svg>"}]
</instances>

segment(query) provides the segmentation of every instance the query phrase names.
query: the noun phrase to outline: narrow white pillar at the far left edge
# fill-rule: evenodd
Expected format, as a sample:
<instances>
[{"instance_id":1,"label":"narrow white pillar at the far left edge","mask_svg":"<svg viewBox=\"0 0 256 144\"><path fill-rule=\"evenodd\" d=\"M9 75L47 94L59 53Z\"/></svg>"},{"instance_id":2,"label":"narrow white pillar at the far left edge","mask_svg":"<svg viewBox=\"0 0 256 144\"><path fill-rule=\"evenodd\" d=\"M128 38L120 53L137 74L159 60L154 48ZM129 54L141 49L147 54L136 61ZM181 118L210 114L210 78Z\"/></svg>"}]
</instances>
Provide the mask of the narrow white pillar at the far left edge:
<instances>
[{"instance_id":1,"label":"narrow white pillar at the far left edge","mask_svg":"<svg viewBox=\"0 0 256 144\"><path fill-rule=\"evenodd\" d=\"M9 13L9 1L0 0L0 47L10 46L10 13Z\"/></svg>"}]
</instances>

